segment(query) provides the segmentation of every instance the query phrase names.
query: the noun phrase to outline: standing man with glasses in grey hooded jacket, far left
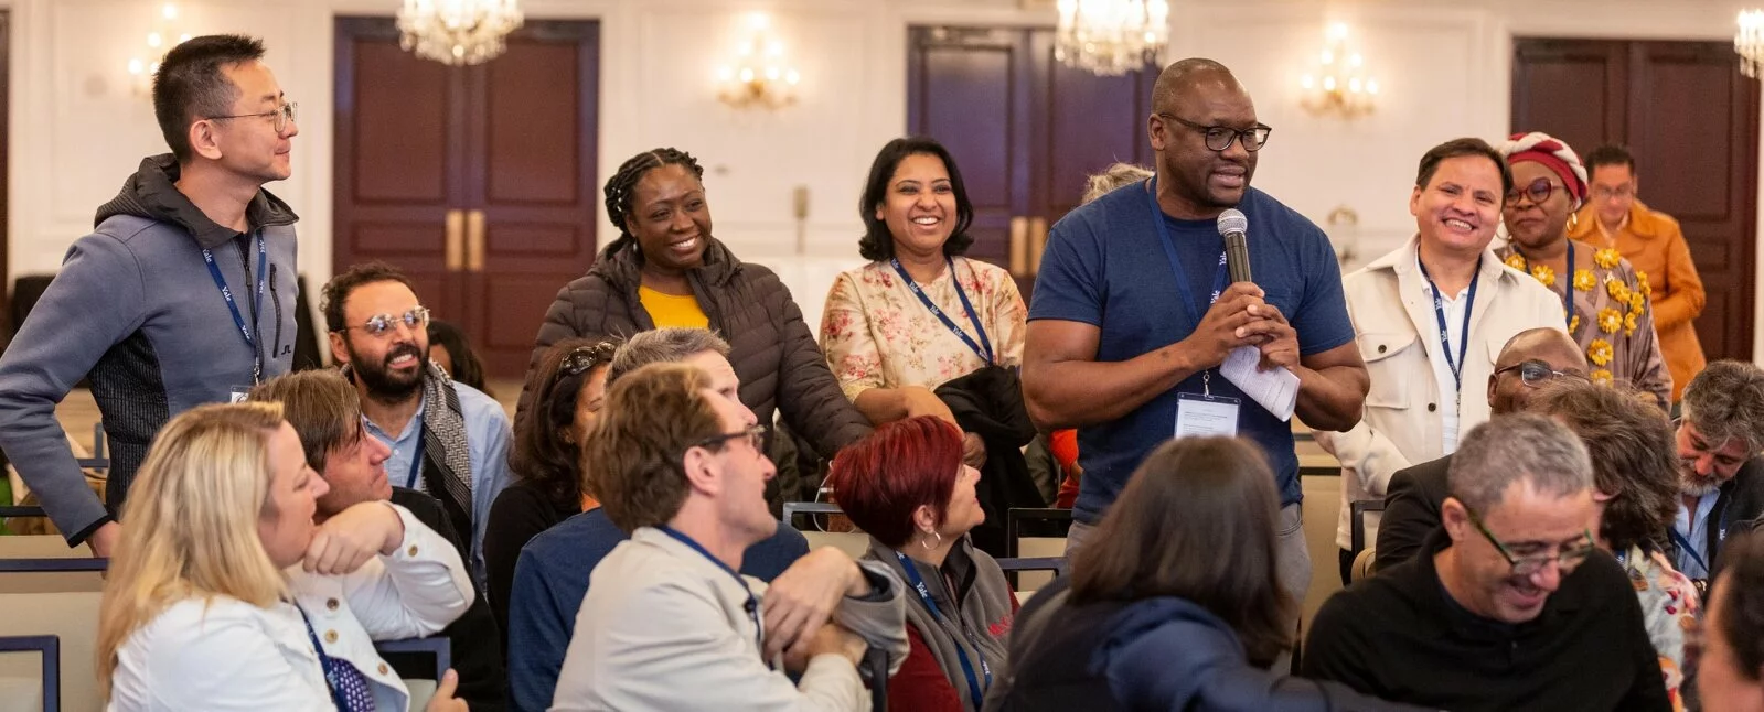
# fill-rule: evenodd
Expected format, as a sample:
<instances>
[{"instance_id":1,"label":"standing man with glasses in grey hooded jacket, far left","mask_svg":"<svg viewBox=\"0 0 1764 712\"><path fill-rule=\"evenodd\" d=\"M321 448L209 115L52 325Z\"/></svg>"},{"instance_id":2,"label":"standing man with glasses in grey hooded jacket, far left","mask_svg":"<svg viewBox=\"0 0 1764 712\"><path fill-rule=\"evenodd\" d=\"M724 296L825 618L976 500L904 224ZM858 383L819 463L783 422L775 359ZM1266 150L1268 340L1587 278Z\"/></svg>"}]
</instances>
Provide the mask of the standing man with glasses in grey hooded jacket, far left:
<instances>
[{"instance_id":1,"label":"standing man with glasses in grey hooded jacket, far left","mask_svg":"<svg viewBox=\"0 0 1764 712\"><path fill-rule=\"evenodd\" d=\"M0 448L69 545L108 557L146 446L171 416L238 400L295 354L295 104L263 44L206 35L166 53L153 115L171 153L141 160L0 358ZM109 483L86 486L55 405L90 379Z\"/></svg>"}]
</instances>

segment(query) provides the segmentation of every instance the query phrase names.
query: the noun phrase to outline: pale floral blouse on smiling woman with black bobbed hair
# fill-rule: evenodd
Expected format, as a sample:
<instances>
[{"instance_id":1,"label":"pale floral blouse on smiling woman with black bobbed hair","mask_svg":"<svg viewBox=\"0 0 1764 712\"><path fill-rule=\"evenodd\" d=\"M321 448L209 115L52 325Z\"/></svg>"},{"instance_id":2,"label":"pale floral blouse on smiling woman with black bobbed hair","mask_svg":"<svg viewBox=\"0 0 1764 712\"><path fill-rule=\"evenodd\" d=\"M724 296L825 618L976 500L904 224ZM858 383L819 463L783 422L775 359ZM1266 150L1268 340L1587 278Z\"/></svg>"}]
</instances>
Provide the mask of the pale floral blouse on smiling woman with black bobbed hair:
<instances>
[{"instance_id":1,"label":"pale floral blouse on smiling woman with black bobbed hair","mask_svg":"<svg viewBox=\"0 0 1764 712\"><path fill-rule=\"evenodd\" d=\"M986 330L998 365L1021 365L1028 308L1023 307L1023 294L1016 291L1011 273L954 257L954 270L946 268L931 284L919 286L974 344L981 344L961 298L956 296L956 280L974 305L974 315ZM937 388L986 365L986 360L924 308L887 261L848 270L833 282L820 319L820 351L827 354L833 375L852 400L871 388Z\"/></svg>"}]
</instances>

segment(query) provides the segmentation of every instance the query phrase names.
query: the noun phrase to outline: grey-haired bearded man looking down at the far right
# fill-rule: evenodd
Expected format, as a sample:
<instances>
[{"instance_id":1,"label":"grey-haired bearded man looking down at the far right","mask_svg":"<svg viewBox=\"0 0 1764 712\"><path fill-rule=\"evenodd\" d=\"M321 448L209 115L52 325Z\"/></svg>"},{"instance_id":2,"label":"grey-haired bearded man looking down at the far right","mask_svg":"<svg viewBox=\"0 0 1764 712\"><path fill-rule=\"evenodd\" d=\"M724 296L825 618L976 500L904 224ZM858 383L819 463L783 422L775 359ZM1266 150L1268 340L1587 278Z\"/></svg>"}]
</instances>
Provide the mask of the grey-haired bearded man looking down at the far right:
<instances>
[{"instance_id":1,"label":"grey-haired bearded man looking down at the far right","mask_svg":"<svg viewBox=\"0 0 1764 712\"><path fill-rule=\"evenodd\" d=\"M1690 379L1678 421L1678 520L1669 530L1678 569L1706 589L1729 534L1764 516L1764 370L1713 361Z\"/></svg>"}]
</instances>

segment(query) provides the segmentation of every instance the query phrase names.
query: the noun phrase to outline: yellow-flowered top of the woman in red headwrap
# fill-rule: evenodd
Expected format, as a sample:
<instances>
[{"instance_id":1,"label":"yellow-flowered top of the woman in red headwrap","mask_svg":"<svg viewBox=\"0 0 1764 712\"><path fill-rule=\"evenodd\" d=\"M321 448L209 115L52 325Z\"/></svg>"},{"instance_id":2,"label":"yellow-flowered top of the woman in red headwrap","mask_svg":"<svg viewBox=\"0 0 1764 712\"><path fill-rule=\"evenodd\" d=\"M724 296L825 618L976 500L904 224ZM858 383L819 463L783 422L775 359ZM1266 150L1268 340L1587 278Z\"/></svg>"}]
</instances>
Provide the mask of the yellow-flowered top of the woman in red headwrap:
<instances>
[{"instance_id":1,"label":"yellow-flowered top of the woman in red headwrap","mask_svg":"<svg viewBox=\"0 0 1764 712\"><path fill-rule=\"evenodd\" d=\"M1565 319L1568 335L1586 349L1593 382L1623 382L1651 393L1662 409L1669 407L1672 374L1660 356L1660 337L1655 335L1653 310L1648 305L1648 294L1653 293L1648 278L1637 275L1618 250L1595 252L1572 241L1568 247L1579 250L1573 275L1558 275L1549 264L1531 264L1512 245L1496 254L1506 266L1536 277L1558 298L1573 287L1573 314ZM1588 252L1593 259L1586 259Z\"/></svg>"}]
</instances>

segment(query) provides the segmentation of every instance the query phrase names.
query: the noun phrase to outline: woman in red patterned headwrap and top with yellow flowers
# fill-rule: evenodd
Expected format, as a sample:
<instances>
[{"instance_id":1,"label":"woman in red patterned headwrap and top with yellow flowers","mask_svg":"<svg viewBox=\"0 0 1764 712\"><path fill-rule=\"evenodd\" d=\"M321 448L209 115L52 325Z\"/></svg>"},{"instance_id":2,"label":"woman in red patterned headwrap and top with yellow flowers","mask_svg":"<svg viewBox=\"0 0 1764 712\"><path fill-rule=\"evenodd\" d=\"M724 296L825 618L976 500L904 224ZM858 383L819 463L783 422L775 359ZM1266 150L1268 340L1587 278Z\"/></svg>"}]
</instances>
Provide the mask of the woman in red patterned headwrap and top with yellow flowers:
<instances>
[{"instance_id":1,"label":"woman in red patterned headwrap and top with yellow flowers","mask_svg":"<svg viewBox=\"0 0 1764 712\"><path fill-rule=\"evenodd\" d=\"M1614 248L1568 240L1586 203L1586 166L1566 143L1544 132L1501 145L1514 189L1501 208L1510 241L1496 250L1563 303L1563 324L1593 367L1593 382L1621 382L1671 407L1672 374L1648 307L1649 286Z\"/></svg>"}]
</instances>

